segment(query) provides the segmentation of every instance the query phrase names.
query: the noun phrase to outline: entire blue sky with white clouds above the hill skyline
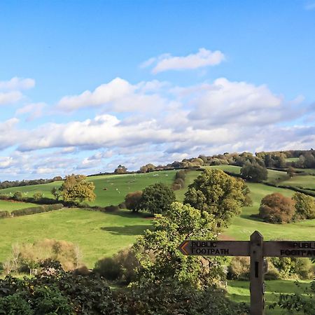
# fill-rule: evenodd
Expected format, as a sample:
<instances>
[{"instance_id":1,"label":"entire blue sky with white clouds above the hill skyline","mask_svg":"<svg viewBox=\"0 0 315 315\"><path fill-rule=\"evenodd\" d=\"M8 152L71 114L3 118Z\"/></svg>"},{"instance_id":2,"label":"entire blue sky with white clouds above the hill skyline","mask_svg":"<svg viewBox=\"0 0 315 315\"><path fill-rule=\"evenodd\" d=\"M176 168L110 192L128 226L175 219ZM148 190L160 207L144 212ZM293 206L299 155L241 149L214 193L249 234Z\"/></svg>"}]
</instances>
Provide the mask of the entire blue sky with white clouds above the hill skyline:
<instances>
[{"instance_id":1,"label":"entire blue sky with white clouds above the hill skyline","mask_svg":"<svg viewBox=\"0 0 315 315\"><path fill-rule=\"evenodd\" d=\"M0 181L315 146L315 1L1 1Z\"/></svg>"}]
</instances>

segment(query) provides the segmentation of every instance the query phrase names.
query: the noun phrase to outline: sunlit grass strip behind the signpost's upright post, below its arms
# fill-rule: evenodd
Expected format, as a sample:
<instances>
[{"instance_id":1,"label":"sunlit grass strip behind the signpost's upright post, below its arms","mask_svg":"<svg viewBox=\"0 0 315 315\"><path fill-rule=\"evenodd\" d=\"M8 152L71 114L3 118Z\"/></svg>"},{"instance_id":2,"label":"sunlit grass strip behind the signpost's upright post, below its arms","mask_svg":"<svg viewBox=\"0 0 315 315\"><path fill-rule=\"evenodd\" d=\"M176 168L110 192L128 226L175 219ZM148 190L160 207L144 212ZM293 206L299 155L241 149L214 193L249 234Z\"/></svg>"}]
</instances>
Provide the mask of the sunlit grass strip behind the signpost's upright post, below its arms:
<instances>
[{"instance_id":1,"label":"sunlit grass strip behind the signpost's upright post, below its arms","mask_svg":"<svg viewBox=\"0 0 315 315\"><path fill-rule=\"evenodd\" d=\"M304 289L309 286L309 281L300 281L301 287L298 288L294 281L289 280L272 280L265 281L265 314L266 315L280 315L287 314L286 311L276 307L275 309L269 309L269 305L277 302L279 300L279 293L303 293ZM249 304L250 293L249 293L249 281L238 281L230 280L228 281L228 297L235 302L244 302ZM294 314L304 314L297 313Z\"/></svg>"}]
</instances>

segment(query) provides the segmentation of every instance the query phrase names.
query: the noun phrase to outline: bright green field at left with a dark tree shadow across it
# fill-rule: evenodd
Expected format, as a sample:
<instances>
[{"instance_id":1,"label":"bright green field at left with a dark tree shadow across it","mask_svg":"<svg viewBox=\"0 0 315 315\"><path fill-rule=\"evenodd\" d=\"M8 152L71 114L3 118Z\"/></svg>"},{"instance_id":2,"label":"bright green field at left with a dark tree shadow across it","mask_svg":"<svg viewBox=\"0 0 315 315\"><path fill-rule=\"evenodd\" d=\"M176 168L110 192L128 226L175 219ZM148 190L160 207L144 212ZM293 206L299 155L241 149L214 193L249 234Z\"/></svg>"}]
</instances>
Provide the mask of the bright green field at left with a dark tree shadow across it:
<instances>
[{"instance_id":1,"label":"bright green field at left with a dark tree shadow across it","mask_svg":"<svg viewBox=\"0 0 315 315\"><path fill-rule=\"evenodd\" d=\"M127 210L104 214L84 209L62 209L4 218L0 220L0 262L9 257L13 243L57 239L78 244L83 251L83 262L93 267L99 258L111 256L131 245L150 225L151 220L144 215L137 216Z\"/></svg>"}]
</instances>

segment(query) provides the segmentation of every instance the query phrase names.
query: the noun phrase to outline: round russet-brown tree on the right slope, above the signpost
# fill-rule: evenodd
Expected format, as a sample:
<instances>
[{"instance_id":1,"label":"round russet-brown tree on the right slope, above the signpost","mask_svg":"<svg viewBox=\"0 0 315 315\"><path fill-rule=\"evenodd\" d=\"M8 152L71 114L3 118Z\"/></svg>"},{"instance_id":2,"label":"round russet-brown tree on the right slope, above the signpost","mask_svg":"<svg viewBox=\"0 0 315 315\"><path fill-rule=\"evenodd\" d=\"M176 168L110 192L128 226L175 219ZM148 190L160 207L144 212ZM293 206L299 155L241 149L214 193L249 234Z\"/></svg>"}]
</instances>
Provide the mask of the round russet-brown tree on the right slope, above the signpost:
<instances>
[{"instance_id":1,"label":"round russet-brown tree on the right slope, above the signpost","mask_svg":"<svg viewBox=\"0 0 315 315\"><path fill-rule=\"evenodd\" d=\"M289 223L295 214L295 202L281 193L272 193L262 198L259 216L269 223Z\"/></svg>"}]
</instances>

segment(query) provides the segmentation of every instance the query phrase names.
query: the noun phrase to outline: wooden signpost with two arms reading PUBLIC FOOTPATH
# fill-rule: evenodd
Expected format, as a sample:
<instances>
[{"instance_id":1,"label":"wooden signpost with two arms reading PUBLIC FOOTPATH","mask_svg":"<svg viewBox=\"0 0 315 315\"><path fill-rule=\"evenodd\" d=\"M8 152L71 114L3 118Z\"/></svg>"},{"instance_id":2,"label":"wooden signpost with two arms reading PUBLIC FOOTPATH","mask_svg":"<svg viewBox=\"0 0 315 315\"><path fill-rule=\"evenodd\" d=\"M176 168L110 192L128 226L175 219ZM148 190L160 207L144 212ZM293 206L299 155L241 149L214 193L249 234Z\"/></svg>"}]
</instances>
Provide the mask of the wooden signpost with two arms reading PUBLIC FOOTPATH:
<instances>
[{"instance_id":1,"label":"wooden signpost with two arms reading PUBLIC FOOTPATH","mask_svg":"<svg viewBox=\"0 0 315 315\"><path fill-rule=\"evenodd\" d=\"M255 231L249 241L187 240L179 246L184 255L250 256L251 315L263 315L265 309L264 257L315 257L315 241L263 241Z\"/></svg>"}]
</instances>

